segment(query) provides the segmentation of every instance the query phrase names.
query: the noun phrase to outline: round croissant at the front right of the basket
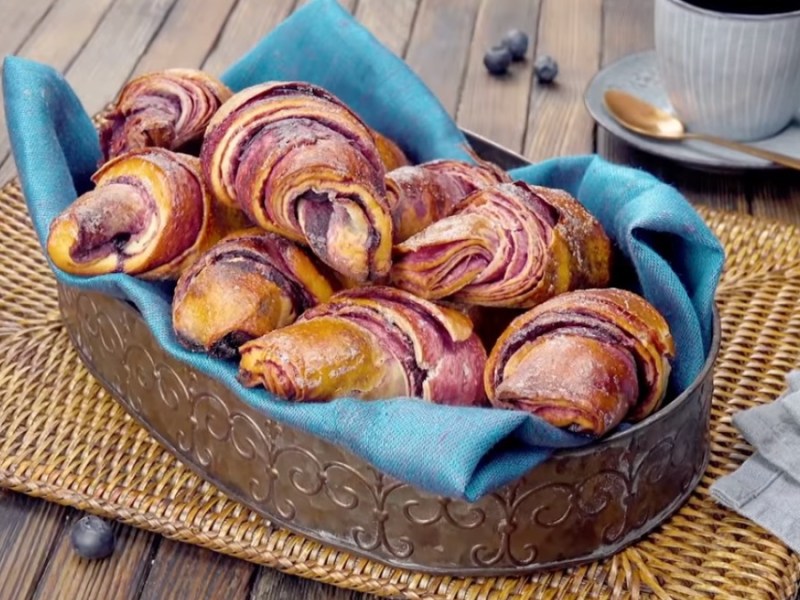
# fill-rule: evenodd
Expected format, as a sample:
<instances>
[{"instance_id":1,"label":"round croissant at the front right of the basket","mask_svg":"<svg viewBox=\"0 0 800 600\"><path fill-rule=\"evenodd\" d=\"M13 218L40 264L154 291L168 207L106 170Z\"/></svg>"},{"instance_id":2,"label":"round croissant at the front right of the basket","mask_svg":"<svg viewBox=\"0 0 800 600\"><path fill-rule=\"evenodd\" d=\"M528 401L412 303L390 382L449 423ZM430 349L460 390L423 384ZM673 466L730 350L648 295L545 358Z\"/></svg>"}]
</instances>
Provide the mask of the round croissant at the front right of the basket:
<instances>
[{"instance_id":1,"label":"round croissant at the front right of the basket","mask_svg":"<svg viewBox=\"0 0 800 600\"><path fill-rule=\"evenodd\" d=\"M674 357L667 322L644 298L579 290L512 321L489 355L484 383L495 406L601 436L658 408Z\"/></svg>"}]
</instances>

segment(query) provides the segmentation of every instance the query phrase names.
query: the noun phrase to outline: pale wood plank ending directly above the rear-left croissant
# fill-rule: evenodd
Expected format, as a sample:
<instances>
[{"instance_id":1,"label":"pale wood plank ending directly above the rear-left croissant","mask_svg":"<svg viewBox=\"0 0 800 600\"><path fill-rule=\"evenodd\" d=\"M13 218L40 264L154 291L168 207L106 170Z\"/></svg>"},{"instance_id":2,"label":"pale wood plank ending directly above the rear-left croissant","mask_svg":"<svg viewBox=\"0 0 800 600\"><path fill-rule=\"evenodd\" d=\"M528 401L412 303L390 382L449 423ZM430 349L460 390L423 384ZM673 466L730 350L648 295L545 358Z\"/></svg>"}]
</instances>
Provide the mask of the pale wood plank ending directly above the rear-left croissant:
<instances>
[{"instance_id":1,"label":"pale wood plank ending directly above the rear-left croissant","mask_svg":"<svg viewBox=\"0 0 800 600\"><path fill-rule=\"evenodd\" d=\"M236 0L177 0L164 24L139 60L135 75L203 64Z\"/></svg>"}]
</instances>

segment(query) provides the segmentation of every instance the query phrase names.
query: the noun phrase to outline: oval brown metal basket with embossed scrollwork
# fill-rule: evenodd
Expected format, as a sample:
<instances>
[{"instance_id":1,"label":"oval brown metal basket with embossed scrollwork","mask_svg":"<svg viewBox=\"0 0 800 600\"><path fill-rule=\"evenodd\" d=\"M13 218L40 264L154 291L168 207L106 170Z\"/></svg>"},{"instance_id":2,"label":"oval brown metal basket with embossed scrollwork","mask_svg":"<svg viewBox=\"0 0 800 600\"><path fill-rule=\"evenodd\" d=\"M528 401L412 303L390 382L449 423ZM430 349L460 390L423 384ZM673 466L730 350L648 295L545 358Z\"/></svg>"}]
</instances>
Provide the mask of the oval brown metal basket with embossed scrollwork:
<instances>
[{"instance_id":1,"label":"oval brown metal basket with embossed scrollwork","mask_svg":"<svg viewBox=\"0 0 800 600\"><path fill-rule=\"evenodd\" d=\"M473 134L505 168L521 157ZM292 531L388 565L448 575L520 575L597 560L686 500L708 463L710 355L692 386L636 426L564 450L475 503L386 476L350 452L272 421L168 356L130 304L59 288L81 358L182 462Z\"/></svg>"}]
</instances>

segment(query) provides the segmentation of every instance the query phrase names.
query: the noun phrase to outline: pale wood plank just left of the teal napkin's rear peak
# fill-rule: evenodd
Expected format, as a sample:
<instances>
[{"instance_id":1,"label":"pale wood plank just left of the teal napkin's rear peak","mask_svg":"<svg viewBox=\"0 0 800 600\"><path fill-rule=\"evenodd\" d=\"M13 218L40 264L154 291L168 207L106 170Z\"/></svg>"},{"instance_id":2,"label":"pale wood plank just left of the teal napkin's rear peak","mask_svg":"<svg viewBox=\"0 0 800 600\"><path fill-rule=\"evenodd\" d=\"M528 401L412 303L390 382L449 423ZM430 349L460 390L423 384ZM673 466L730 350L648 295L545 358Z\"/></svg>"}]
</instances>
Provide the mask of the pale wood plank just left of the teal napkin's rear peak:
<instances>
[{"instance_id":1,"label":"pale wood plank just left of the teal napkin's rear peak","mask_svg":"<svg viewBox=\"0 0 800 600\"><path fill-rule=\"evenodd\" d=\"M203 69L215 75L222 74L266 33L283 21L294 4L295 0L238 2L231 11L216 45L203 63Z\"/></svg>"}]
</instances>

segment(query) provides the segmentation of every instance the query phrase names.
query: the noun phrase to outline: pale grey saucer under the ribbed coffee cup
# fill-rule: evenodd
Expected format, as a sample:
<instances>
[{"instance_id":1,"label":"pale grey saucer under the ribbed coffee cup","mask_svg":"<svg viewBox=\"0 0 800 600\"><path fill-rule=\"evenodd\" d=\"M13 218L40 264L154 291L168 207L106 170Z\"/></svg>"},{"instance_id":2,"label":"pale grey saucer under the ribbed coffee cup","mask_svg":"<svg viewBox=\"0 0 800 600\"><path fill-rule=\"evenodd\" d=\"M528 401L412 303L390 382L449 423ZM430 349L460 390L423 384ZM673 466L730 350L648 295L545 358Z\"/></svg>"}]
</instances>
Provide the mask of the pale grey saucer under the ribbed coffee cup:
<instances>
[{"instance_id":1,"label":"pale grey saucer under the ribbed coffee cup","mask_svg":"<svg viewBox=\"0 0 800 600\"><path fill-rule=\"evenodd\" d=\"M601 70L589 82L584 95L586 108L600 125L640 150L696 167L735 170L777 167L760 158L705 142L696 140L668 142L632 133L619 125L605 109L603 93L610 88L630 92L651 104L673 112L658 77L653 50L626 56ZM800 158L800 113L777 135L751 144Z\"/></svg>"}]
</instances>

